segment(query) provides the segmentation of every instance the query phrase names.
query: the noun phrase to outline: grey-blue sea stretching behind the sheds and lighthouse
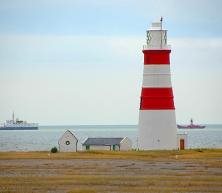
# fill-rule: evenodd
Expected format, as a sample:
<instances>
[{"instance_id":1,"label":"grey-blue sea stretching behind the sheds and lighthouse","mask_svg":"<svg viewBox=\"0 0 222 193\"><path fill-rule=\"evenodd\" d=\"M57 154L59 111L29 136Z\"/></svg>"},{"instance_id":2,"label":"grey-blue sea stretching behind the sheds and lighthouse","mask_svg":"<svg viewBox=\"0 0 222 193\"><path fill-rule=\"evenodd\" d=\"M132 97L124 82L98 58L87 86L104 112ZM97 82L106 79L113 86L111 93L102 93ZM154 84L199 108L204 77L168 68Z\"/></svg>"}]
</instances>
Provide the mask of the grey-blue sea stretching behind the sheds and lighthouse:
<instances>
[{"instance_id":1,"label":"grey-blue sea stretching behind the sheds and lighthouse","mask_svg":"<svg viewBox=\"0 0 222 193\"><path fill-rule=\"evenodd\" d=\"M129 137L138 147L137 125L67 125L39 126L39 130L0 130L0 151L50 151L70 130L79 140L78 150L88 137ZM178 129L186 133L187 148L222 148L222 124L208 124L204 129Z\"/></svg>"}]
</instances>

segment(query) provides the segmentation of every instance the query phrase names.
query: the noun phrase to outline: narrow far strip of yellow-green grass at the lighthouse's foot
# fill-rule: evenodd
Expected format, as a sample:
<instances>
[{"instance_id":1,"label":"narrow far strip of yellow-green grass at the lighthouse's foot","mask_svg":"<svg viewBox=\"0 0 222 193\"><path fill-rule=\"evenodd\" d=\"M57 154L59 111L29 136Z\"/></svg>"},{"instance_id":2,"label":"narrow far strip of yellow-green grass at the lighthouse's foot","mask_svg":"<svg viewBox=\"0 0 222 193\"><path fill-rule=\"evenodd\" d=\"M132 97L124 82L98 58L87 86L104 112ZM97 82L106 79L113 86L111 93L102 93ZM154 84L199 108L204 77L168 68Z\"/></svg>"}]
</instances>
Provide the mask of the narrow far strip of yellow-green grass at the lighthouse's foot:
<instances>
[{"instance_id":1,"label":"narrow far strip of yellow-green grass at the lighthouse's foot","mask_svg":"<svg viewBox=\"0 0 222 193\"><path fill-rule=\"evenodd\" d=\"M200 154L201 152L201 154ZM202 159L221 157L222 149L194 149L183 151L82 151L49 155L48 152L0 152L0 159Z\"/></svg>"}]
</instances>

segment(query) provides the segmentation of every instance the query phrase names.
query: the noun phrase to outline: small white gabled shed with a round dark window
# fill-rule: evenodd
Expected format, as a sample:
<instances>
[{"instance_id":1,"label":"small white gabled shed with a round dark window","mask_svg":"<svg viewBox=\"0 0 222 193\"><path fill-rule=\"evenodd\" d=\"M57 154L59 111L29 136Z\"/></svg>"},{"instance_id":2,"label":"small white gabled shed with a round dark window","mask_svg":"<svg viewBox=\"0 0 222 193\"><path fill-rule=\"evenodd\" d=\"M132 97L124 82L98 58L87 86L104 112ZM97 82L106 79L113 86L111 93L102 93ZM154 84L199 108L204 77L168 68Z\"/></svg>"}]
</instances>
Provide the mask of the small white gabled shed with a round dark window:
<instances>
[{"instance_id":1,"label":"small white gabled shed with a round dark window","mask_svg":"<svg viewBox=\"0 0 222 193\"><path fill-rule=\"evenodd\" d=\"M78 139L76 136L69 130L67 130L59 141L59 151L60 152L76 152Z\"/></svg>"}]
</instances>

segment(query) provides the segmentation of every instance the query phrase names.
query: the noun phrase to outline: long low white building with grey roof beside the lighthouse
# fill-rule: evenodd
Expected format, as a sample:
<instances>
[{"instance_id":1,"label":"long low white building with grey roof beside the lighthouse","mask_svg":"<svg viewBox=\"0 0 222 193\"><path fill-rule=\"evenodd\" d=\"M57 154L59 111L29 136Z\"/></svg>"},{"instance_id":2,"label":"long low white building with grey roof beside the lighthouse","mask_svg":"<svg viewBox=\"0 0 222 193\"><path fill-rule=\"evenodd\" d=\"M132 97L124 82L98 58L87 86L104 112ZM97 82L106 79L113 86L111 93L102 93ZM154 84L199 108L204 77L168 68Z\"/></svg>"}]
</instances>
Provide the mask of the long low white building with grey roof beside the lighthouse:
<instances>
[{"instance_id":1,"label":"long low white building with grey roof beside the lighthouse","mask_svg":"<svg viewBox=\"0 0 222 193\"><path fill-rule=\"evenodd\" d=\"M83 150L117 150L128 151L132 149L132 141L124 138L88 138L82 144Z\"/></svg>"}]
</instances>

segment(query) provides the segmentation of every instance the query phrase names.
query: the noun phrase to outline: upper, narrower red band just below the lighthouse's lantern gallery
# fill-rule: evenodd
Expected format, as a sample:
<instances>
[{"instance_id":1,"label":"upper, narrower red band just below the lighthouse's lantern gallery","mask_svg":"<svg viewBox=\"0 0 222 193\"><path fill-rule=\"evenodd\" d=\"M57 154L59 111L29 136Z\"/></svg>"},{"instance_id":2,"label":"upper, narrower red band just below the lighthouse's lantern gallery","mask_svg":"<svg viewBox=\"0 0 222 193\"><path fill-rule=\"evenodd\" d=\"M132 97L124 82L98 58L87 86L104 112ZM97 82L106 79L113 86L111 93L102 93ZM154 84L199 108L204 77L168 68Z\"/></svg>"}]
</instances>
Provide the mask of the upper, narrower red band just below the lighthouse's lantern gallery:
<instances>
[{"instance_id":1,"label":"upper, narrower red band just below the lighthouse's lantern gallery","mask_svg":"<svg viewBox=\"0 0 222 193\"><path fill-rule=\"evenodd\" d=\"M149 64L170 64L171 50L143 50L144 65Z\"/></svg>"}]
</instances>

